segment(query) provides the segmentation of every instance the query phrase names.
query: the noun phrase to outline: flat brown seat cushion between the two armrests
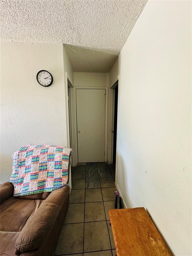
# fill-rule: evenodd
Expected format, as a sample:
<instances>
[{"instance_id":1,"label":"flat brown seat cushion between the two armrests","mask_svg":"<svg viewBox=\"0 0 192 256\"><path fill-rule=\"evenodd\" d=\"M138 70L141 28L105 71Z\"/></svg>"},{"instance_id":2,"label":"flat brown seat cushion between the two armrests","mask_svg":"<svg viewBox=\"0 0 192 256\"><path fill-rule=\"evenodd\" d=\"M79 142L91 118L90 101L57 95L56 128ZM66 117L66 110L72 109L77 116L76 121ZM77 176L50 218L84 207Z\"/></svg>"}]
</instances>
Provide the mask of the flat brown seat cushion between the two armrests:
<instances>
[{"instance_id":1,"label":"flat brown seat cushion between the two armrests","mask_svg":"<svg viewBox=\"0 0 192 256\"><path fill-rule=\"evenodd\" d=\"M9 197L1 203L1 231L21 231L28 219L39 208L43 200L27 200Z\"/></svg>"}]
</instances>

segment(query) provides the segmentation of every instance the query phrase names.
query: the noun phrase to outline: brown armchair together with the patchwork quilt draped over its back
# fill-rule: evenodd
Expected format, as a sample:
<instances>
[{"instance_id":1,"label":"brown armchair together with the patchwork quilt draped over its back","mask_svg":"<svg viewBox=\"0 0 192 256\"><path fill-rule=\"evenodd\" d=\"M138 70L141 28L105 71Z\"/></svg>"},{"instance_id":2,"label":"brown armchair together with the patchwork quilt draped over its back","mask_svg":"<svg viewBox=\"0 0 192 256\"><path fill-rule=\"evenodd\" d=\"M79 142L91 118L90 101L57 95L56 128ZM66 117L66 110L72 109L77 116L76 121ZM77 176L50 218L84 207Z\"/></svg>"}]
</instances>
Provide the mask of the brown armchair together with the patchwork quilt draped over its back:
<instances>
[{"instance_id":1,"label":"brown armchair together with the patchwork quilt draped over its back","mask_svg":"<svg viewBox=\"0 0 192 256\"><path fill-rule=\"evenodd\" d=\"M13 154L10 182L0 185L1 256L54 254L69 206L70 158L71 149L50 145Z\"/></svg>"}]
</instances>

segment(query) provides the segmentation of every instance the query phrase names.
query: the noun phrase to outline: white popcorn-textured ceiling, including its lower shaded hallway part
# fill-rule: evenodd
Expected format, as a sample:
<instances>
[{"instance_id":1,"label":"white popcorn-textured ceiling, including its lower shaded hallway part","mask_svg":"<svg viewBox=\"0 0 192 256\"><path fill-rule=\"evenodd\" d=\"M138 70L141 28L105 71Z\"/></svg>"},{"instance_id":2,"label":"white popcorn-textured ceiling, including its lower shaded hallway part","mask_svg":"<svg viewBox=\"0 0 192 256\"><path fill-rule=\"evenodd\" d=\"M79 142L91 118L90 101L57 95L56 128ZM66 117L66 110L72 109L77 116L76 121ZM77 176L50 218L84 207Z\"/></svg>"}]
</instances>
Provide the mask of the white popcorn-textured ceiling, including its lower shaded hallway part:
<instances>
[{"instance_id":1,"label":"white popcorn-textured ceiling, including its lower shaded hallway part","mask_svg":"<svg viewBox=\"0 0 192 256\"><path fill-rule=\"evenodd\" d=\"M0 40L72 45L66 50L74 71L108 72L145 4L146 0L0 0Z\"/></svg>"}]
</instances>

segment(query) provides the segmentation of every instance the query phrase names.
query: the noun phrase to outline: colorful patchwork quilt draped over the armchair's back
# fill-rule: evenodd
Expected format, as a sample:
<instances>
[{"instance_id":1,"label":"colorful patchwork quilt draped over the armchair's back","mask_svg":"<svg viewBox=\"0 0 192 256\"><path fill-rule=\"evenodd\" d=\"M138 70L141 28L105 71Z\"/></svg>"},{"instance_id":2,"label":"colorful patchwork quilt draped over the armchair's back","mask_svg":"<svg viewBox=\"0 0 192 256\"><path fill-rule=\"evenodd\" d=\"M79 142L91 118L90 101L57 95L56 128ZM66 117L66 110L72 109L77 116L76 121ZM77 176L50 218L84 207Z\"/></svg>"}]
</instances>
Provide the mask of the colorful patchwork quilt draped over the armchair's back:
<instances>
[{"instance_id":1,"label":"colorful patchwork quilt draped over the armchair's back","mask_svg":"<svg viewBox=\"0 0 192 256\"><path fill-rule=\"evenodd\" d=\"M13 155L14 196L51 192L66 185L71 148L25 145Z\"/></svg>"}]
</instances>

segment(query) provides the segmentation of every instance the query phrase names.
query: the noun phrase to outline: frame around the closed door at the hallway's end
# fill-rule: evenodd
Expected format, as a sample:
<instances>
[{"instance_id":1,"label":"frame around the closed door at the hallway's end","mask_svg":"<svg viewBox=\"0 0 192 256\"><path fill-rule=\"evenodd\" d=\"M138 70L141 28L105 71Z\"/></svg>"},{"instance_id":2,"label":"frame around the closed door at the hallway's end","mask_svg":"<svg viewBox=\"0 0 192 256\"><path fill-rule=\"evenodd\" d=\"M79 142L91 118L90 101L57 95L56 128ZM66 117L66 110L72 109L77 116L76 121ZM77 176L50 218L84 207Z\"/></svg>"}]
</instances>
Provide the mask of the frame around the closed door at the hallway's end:
<instances>
[{"instance_id":1,"label":"frame around the closed door at the hallway's end","mask_svg":"<svg viewBox=\"0 0 192 256\"><path fill-rule=\"evenodd\" d=\"M74 106L71 109L71 116L73 120L72 129L74 129L74 133L72 133L72 141L74 146L74 154L73 154L73 164L72 166L76 166L78 164L78 148L77 148L77 110L76 110L76 89L105 89L105 162L107 162L107 124L108 124L108 87L107 86L74 86L72 96L72 105ZM75 122L74 122L75 121Z\"/></svg>"}]
</instances>

